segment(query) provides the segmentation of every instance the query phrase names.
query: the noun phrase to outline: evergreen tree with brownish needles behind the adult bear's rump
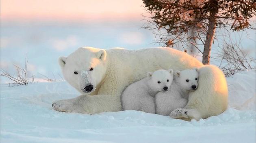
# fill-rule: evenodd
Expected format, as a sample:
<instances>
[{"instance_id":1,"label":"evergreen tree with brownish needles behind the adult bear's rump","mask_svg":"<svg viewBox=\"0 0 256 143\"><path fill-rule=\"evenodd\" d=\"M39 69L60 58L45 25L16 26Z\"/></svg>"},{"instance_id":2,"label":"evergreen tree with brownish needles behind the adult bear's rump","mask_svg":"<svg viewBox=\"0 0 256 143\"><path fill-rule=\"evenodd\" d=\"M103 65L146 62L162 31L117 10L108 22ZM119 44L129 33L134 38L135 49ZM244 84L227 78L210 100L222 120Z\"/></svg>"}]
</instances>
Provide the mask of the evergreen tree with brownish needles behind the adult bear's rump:
<instances>
[{"instance_id":1,"label":"evergreen tree with brownish needles behind the adult bear's rump","mask_svg":"<svg viewBox=\"0 0 256 143\"><path fill-rule=\"evenodd\" d=\"M252 28L249 19L255 16L255 0L143 0L151 14L146 29L167 32L159 42L170 47L178 42L200 40L204 44L203 64L210 63L210 51L216 28L232 31ZM193 30L193 34L189 34Z\"/></svg>"}]
</instances>

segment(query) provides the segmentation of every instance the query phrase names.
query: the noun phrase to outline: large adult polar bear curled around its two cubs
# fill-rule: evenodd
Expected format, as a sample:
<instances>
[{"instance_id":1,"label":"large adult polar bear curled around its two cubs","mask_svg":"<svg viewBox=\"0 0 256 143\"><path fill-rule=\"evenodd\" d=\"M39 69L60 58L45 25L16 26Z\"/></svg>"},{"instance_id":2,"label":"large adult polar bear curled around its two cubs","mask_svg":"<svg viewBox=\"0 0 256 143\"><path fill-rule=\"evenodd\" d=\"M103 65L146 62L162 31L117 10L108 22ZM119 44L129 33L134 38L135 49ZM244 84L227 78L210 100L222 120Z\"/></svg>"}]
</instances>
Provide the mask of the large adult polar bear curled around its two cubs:
<instances>
[{"instance_id":1,"label":"large adult polar bear curled around its two cubs","mask_svg":"<svg viewBox=\"0 0 256 143\"><path fill-rule=\"evenodd\" d=\"M82 95L55 101L52 107L57 111L88 114L120 111L123 90L145 78L148 71L193 67L199 68L199 88L190 95L186 110L177 109L172 117L199 120L221 114L227 108L228 90L222 71L212 65L202 65L187 53L173 48L103 50L82 47L68 57L60 57L59 65L65 80Z\"/></svg>"}]
</instances>

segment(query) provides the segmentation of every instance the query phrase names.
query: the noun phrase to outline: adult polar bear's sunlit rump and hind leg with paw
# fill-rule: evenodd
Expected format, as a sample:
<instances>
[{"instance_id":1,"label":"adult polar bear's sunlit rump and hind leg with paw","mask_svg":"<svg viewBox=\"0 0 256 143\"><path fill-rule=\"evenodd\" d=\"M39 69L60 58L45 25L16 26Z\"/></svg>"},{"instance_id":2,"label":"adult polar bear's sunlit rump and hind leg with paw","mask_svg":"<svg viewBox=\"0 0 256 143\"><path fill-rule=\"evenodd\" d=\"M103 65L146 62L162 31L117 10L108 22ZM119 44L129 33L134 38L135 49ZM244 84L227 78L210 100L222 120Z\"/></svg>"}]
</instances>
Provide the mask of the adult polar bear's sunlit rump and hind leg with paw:
<instances>
[{"instance_id":1,"label":"adult polar bear's sunlit rump and hind leg with paw","mask_svg":"<svg viewBox=\"0 0 256 143\"><path fill-rule=\"evenodd\" d=\"M198 88L189 94L189 102L183 109L171 112L172 118L200 120L217 116L227 109L228 86L223 72L214 65L199 70Z\"/></svg>"}]
</instances>

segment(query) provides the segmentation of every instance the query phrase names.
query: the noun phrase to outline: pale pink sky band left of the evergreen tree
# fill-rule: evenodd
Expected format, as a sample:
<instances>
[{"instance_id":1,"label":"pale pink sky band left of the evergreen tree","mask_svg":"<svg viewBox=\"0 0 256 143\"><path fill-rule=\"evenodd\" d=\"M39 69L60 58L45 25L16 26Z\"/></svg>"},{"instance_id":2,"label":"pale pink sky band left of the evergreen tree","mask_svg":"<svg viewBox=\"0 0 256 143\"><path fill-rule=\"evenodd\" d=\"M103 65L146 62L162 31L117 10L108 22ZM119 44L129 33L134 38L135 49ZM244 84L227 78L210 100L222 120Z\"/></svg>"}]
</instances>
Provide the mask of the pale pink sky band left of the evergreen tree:
<instances>
[{"instance_id":1,"label":"pale pink sky band left of the evergreen tree","mask_svg":"<svg viewBox=\"0 0 256 143\"><path fill-rule=\"evenodd\" d=\"M142 0L1 0L1 20L141 19Z\"/></svg>"}]
</instances>

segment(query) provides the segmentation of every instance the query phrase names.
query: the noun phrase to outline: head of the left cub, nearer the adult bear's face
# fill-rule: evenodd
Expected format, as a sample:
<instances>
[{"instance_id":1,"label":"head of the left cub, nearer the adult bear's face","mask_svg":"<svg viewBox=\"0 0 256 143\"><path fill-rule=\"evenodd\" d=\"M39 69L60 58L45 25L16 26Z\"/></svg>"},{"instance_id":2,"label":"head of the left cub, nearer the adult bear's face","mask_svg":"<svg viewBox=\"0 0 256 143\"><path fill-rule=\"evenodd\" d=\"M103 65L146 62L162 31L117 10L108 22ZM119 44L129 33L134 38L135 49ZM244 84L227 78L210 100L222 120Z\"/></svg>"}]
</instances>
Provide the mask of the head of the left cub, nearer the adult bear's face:
<instances>
[{"instance_id":1,"label":"head of the left cub, nearer the adult bear's face","mask_svg":"<svg viewBox=\"0 0 256 143\"><path fill-rule=\"evenodd\" d=\"M154 91L168 91L173 81L173 70L157 70L148 72L148 85Z\"/></svg>"}]
</instances>

